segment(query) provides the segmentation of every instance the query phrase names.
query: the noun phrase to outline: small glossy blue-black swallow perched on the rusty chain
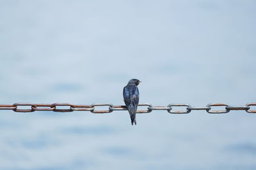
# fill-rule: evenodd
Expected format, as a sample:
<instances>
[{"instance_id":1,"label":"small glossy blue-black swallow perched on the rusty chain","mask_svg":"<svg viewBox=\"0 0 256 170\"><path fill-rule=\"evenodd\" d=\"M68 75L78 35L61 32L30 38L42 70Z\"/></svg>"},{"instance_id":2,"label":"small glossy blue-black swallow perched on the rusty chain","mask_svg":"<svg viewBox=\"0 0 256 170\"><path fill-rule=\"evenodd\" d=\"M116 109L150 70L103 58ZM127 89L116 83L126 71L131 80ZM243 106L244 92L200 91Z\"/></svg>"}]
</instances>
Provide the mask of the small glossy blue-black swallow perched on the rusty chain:
<instances>
[{"instance_id":1,"label":"small glossy blue-black swallow perched on the rusty chain","mask_svg":"<svg viewBox=\"0 0 256 170\"><path fill-rule=\"evenodd\" d=\"M124 87L123 95L124 95L124 103L127 106L127 109L130 113L131 122L136 125L136 111L139 104L139 89L138 85L140 84L140 80L132 79L128 82L128 84Z\"/></svg>"}]
</instances>

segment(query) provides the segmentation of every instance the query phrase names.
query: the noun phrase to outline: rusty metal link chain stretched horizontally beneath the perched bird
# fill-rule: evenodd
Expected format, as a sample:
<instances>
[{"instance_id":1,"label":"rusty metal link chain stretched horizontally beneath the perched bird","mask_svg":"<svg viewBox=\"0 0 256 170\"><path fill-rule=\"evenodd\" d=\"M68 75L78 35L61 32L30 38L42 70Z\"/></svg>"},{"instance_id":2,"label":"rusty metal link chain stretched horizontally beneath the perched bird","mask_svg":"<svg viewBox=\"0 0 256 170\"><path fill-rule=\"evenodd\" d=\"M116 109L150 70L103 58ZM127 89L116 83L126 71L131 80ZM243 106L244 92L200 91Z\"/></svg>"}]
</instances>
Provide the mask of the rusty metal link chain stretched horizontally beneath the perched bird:
<instances>
[{"instance_id":1,"label":"rusty metal link chain stretched horizontally beneath the perched bird","mask_svg":"<svg viewBox=\"0 0 256 170\"><path fill-rule=\"evenodd\" d=\"M29 109L22 109L22 106L30 106ZM108 110L96 110L100 106L108 106ZM186 103L171 103L168 106L152 106L150 103L141 103L141 106L147 106L147 110L137 110L137 113L150 113L152 110L166 110L173 114L190 113L192 110L205 110L208 113L228 113L230 110L245 110L248 113L256 113L256 110L250 109L250 106L256 106L256 103L248 103L245 106L230 106L227 103L211 103L204 107L192 107ZM225 107L225 110L212 110L212 108ZM61 109L60 107L66 107ZM174 110L173 108L186 107L184 110ZM0 110L13 110L16 112L33 112L33 111L56 111L56 112L72 112L72 111L91 111L92 113L111 113L112 111L127 110L124 105L114 106L111 103L104 104L71 104L71 103L53 103L53 104L33 104L33 103L15 103L0 104Z\"/></svg>"}]
</instances>

